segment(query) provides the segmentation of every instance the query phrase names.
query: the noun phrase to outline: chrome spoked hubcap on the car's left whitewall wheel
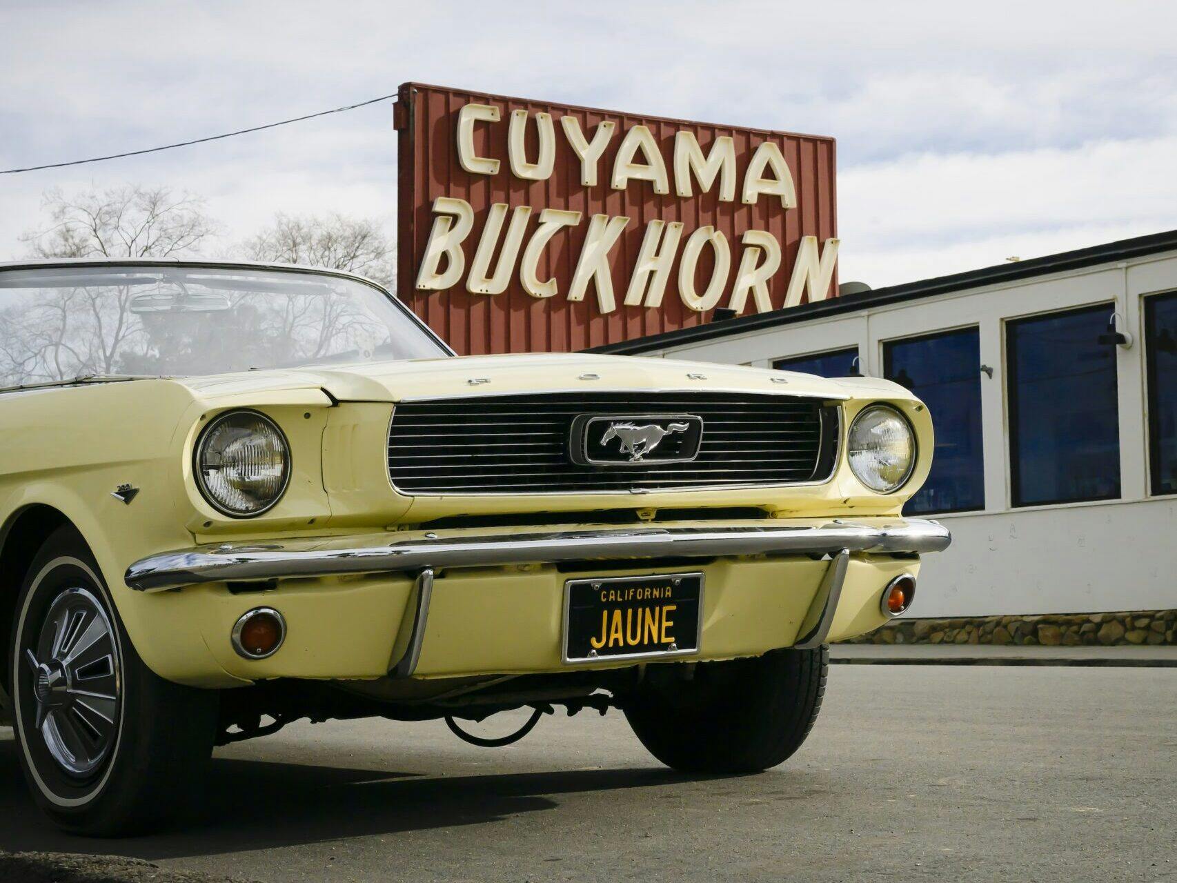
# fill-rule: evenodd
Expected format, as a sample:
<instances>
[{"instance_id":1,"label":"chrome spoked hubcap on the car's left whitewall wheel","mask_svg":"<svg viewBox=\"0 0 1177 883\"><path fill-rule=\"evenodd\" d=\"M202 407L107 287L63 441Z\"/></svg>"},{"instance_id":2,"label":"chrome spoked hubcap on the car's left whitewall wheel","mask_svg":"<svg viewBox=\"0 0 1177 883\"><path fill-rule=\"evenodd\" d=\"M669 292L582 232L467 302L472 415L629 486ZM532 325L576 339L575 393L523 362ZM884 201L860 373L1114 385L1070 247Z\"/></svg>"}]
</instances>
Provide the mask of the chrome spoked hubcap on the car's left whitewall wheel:
<instances>
[{"instance_id":1,"label":"chrome spoked hubcap on the car's left whitewall wheel","mask_svg":"<svg viewBox=\"0 0 1177 883\"><path fill-rule=\"evenodd\" d=\"M122 671L106 610L88 589L67 589L49 606L35 649L25 650L36 733L71 776L87 776L118 736Z\"/></svg>"}]
</instances>

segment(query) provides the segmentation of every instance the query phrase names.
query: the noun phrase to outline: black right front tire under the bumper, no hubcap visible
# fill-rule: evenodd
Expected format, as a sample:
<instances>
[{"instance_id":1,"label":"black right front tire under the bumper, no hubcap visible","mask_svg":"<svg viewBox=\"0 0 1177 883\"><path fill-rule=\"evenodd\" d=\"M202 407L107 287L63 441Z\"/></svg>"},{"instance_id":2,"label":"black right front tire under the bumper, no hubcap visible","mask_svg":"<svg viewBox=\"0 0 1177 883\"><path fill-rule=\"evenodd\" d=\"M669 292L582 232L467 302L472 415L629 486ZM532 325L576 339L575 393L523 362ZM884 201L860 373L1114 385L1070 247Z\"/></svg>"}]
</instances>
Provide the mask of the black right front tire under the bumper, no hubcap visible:
<instances>
[{"instance_id":1,"label":"black right front tire under the bumper, no hubcap visible","mask_svg":"<svg viewBox=\"0 0 1177 883\"><path fill-rule=\"evenodd\" d=\"M825 693L827 646L754 659L678 664L633 693L625 716L641 744L685 772L757 772L783 763L809 735ZM647 673L650 673L647 671Z\"/></svg>"}]
</instances>

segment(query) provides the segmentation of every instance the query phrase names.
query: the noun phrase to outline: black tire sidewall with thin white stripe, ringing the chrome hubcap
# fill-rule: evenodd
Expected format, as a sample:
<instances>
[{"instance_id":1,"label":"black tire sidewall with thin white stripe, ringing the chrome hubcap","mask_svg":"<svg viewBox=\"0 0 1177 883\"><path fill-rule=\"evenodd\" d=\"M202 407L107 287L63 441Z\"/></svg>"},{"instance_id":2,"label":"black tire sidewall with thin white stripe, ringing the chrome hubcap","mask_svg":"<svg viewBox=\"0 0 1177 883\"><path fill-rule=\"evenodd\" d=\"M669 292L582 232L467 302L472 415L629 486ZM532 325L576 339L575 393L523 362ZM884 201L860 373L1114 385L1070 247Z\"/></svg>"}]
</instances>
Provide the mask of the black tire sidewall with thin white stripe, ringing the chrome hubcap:
<instances>
[{"instance_id":1,"label":"black tire sidewall with thin white stripe, ringing the chrome hubcap","mask_svg":"<svg viewBox=\"0 0 1177 883\"><path fill-rule=\"evenodd\" d=\"M55 543L53 539L36 556L29 571L32 577L27 580L18 600L8 663L9 689L13 698L13 730L20 745L18 755L21 769L36 803L51 815L60 818L92 812L95 804L100 803L111 790L112 781L117 778L120 768L125 764L128 737L127 705L133 695L134 684L128 683L131 680L128 672L133 669L127 653L129 644L122 624L119 622L111 593L99 576L97 565L92 559L87 560L88 556L80 555L77 547L68 549L66 544ZM102 764L84 779L73 779L67 776L49 755L40 733L33 730L35 699L31 695L32 684L27 675L28 668L22 659L25 649L35 645L45 615L54 599L62 591L72 587L89 590L105 608L120 668L115 742Z\"/></svg>"}]
</instances>

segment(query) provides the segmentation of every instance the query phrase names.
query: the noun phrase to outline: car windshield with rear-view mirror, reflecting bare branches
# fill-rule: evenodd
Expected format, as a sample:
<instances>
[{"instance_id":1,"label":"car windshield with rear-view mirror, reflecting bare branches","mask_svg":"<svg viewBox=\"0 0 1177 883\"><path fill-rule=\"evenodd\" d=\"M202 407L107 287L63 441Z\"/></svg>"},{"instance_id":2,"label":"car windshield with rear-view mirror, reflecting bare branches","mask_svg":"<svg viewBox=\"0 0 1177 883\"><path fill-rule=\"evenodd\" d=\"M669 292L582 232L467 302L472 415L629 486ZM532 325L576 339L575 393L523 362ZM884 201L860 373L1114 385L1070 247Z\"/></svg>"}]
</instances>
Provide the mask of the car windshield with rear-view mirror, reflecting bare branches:
<instances>
[{"instance_id":1,"label":"car windshield with rear-view mirror, reflecting bare branches","mask_svg":"<svg viewBox=\"0 0 1177 883\"><path fill-rule=\"evenodd\" d=\"M181 266L0 271L0 387L447 356L364 283Z\"/></svg>"}]
</instances>

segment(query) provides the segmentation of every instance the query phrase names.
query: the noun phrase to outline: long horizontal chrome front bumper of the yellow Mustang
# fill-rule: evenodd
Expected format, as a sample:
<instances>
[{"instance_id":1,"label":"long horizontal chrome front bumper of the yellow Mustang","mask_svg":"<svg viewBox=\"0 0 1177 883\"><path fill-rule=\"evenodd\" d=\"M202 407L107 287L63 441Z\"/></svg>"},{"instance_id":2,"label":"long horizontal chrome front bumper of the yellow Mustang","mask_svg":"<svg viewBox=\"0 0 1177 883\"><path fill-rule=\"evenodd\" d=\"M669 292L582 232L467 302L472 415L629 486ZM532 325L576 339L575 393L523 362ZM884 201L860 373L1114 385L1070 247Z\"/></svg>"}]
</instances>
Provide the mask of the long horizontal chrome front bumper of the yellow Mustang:
<instances>
[{"instance_id":1,"label":"long horizontal chrome front bumper of the yellow Mustang","mask_svg":"<svg viewBox=\"0 0 1177 883\"><path fill-rule=\"evenodd\" d=\"M425 569L554 564L738 555L938 552L951 543L943 525L916 518L890 524L834 519L816 524L649 526L551 530L540 533L428 537L390 542L388 533L317 537L281 543L197 546L154 555L127 569L144 592L200 583L255 582L346 573L419 573Z\"/></svg>"}]
</instances>

